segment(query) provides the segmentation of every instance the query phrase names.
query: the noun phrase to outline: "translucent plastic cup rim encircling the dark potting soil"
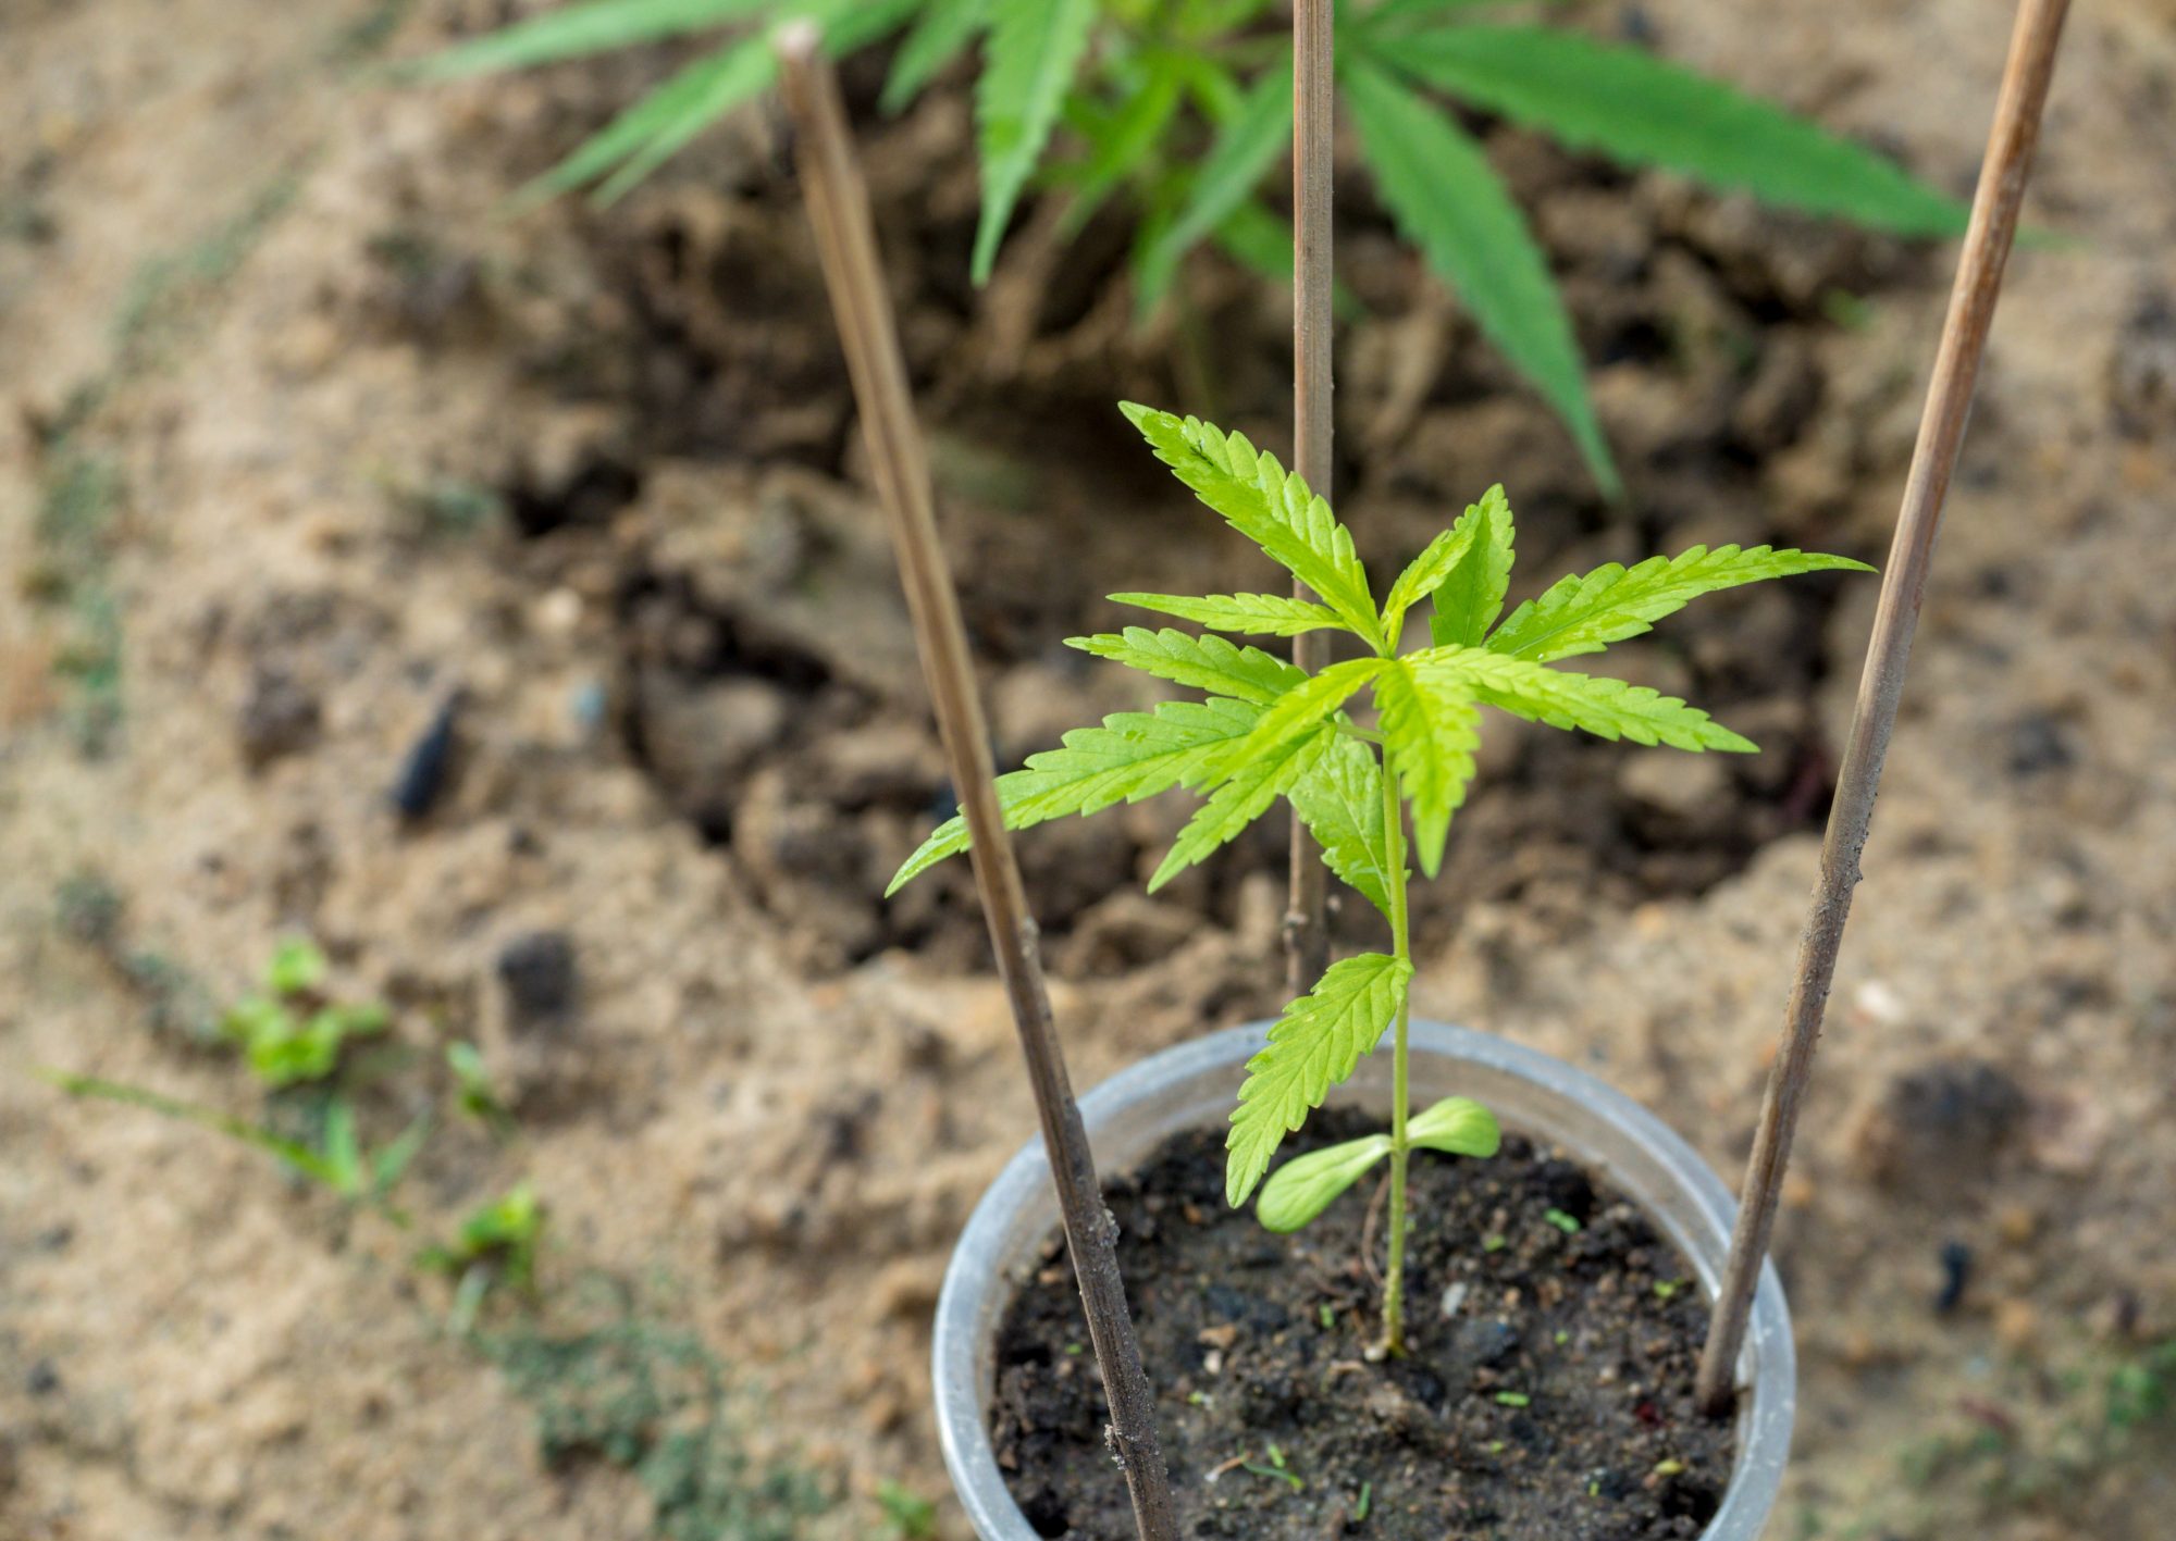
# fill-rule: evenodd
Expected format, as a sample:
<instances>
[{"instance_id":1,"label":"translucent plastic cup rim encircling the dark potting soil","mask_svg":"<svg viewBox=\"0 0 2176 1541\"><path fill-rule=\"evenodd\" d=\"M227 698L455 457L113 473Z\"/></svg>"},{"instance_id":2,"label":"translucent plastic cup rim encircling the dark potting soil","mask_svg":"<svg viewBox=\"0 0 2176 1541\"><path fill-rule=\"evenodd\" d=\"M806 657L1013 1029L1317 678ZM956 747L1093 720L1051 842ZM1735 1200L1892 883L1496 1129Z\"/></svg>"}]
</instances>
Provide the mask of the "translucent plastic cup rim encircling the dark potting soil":
<instances>
[{"instance_id":1,"label":"translucent plastic cup rim encircling the dark potting soil","mask_svg":"<svg viewBox=\"0 0 2176 1541\"><path fill-rule=\"evenodd\" d=\"M1269 1023L1216 1032L1166 1049L1081 1097L1081 1119L1103 1173L1145 1160L1169 1134L1223 1123L1242 1067ZM1412 1023L1412 1101L1478 1097L1506 1127L1560 1145L1636 1201L1691 1260L1715 1297L1730 1252L1736 1204L1721 1180L1669 1125L1562 1060L1467 1027ZM1360 1060L1330 1104L1386 1108L1390 1056ZM1005 1491L990 1452L990 1391L997 1323L1023 1271L1058 1228L1042 1141L1031 1141L975 1206L944 1273L936 1317L936 1404L944 1465L981 1541L1038 1541ZM1149 1367L1151 1380L1155 1367ZM1776 1506L1791 1452L1797 1363L1791 1312L1776 1265L1760 1271L1745 1349L1739 1356L1739 1458L1730 1491L1702 1541L1756 1541ZM1112 1482L1116 1482L1116 1471ZM1534 1537L1534 1541L1547 1541Z\"/></svg>"}]
</instances>

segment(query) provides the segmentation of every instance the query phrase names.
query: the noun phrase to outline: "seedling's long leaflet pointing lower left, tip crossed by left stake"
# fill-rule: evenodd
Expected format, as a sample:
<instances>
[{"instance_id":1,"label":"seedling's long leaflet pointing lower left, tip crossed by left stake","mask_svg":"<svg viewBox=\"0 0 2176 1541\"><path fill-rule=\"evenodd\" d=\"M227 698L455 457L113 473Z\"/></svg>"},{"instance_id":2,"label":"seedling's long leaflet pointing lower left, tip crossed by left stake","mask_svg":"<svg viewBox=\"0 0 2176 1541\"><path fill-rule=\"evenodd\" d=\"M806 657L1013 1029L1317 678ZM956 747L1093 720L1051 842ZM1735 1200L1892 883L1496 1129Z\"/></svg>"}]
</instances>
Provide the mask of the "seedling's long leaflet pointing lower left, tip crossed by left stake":
<instances>
[{"instance_id":1,"label":"seedling's long leaflet pointing lower left, tip crossed by left stake","mask_svg":"<svg viewBox=\"0 0 2176 1541\"><path fill-rule=\"evenodd\" d=\"M1062 749L1034 753L1027 768L997 777L1005 827L1031 829L1192 786L1260 718L1262 707L1247 701L1164 701L1153 712L1116 712L1101 727L1075 727ZM955 814L901 864L883 897L966 849L966 818Z\"/></svg>"}]
</instances>

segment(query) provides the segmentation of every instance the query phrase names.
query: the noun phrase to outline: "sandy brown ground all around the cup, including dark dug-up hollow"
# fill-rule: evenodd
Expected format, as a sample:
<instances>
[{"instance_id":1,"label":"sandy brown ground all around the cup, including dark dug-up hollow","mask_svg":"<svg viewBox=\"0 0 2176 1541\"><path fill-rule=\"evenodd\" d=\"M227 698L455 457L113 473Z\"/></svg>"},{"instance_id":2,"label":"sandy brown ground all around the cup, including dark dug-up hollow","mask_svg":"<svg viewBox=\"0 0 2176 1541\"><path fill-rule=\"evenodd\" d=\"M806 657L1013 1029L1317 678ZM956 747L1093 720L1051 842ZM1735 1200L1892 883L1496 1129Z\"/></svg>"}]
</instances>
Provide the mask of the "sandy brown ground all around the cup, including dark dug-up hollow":
<instances>
[{"instance_id":1,"label":"sandy brown ground all around the cup, including dark dug-up hollow","mask_svg":"<svg viewBox=\"0 0 2176 1541\"><path fill-rule=\"evenodd\" d=\"M433 1141L405 1195L422 1230L533 1180L542 1332L594 1323L607 1278L698 1334L731 1443L827 1493L792 1534L881 1534L881 1484L944 1491L929 1304L1031 1114L957 875L875 901L942 773L792 187L751 115L614 215L500 218L659 61L457 91L355 74L492 13L0 17L11 1539L594 1541L712 1513L609 1460L546 1465L529 1382L446 1334L416 1236L30 1075L250 1112L191 1023L289 929L416 1049L372 1136L442 1090L450 1038L514 1099L514 1145ZM1969 185L2002 7L1647 20ZM2176 1339L2172 102L2165 2L2074 17L2032 218L2076 244L2013 268L1778 1243L1804 1354L1784 1537L2148 1541L2176 1502L2169 1423L2122 1417L2176 1380L2152 1369ZM1279 442L1284 300L1201 272L1214 357L1171 322L1125 337L1116 235L1064 255L1034 220L975 300L964 131L940 94L870 163L1016 757L1138 701L1058 646L1116 618L1095 596L1136 583L1136 553L1158 585L1260 585L1108 403ZM1340 344L1340 509L1362 544L1388 562L1501 477L1519 592L1634 542L1878 555L1945 257L1493 150L1606 359L1634 509L1593 503L1356 198L1373 316ZM1867 298L1858 324L1837 289ZM1665 322L1676 353L1636 346ZM1871 596L1719 605L1632 655L1769 742L1763 768L1504 736L1421 923L1419 1003L1595 1067L1734 1173ZM446 790L400 818L387 790L455 692ZM1177 816L1027 842L1081 1082L1275 1003L1275 836L1145 901ZM87 929L85 895L120 916ZM503 969L540 932L579 971L548 1023Z\"/></svg>"}]
</instances>

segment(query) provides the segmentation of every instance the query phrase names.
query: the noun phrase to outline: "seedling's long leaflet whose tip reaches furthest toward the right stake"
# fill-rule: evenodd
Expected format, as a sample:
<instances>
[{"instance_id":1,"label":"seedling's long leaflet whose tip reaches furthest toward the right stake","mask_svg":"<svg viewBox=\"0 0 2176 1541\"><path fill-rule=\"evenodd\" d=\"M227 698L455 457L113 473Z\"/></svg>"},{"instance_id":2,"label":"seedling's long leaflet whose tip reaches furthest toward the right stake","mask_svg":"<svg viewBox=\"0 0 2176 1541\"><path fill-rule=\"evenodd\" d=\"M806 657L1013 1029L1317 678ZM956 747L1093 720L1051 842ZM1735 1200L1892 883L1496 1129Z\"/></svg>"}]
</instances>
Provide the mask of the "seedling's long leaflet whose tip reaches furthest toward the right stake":
<instances>
[{"instance_id":1,"label":"seedling's long leaflet whose tip reaches furthest toward the right stake","mask_svg":"<svg viewBox=\"0 0 2176 1541\"><path fill-rule=\"evenodd\" d=\"M1647 557L1634 568L1606 562L1593 572L1556 581L1541 599L1530 599L1510 612L1510 618L1488 638L1488 651L1534 664L1599 653L1610 642L1623 642L1652 629L1656 620L1684 609L1702 594L1739 583L1830 570L1871 572L1874 568L1850 557L1771 551L1769 546L1745 551L1691 546L1678 557ZM1449 640L1454 638L1438 638L1438 642Z\"/></svg>"}]
</instances>

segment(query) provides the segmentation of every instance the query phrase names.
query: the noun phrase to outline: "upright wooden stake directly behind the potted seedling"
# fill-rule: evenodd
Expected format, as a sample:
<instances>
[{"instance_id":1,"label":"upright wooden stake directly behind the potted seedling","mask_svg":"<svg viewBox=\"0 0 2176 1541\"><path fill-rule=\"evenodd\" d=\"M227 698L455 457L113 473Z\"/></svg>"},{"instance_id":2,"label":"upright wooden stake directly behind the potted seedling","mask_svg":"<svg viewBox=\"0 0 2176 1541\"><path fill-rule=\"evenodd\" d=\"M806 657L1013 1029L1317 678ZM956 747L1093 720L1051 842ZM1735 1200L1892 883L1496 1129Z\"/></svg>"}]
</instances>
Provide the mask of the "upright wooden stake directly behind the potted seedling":
<instances>
[{"instance_id":1,"label":"upright wooden stake directly behind the potted seedling","mask_svg":"<svg viewBox=\"0 0 2176 1541\"><path fill-rule=\"evenodd\" d=\"M1330 496L1330 185L1334 0L1293 0L1293 470ZM1295 599L1314 599L1293 581ZM1310 675L1330 662L1330 633L1293 638ZM1330 966L1330 875L1314 836L1293 814L1293 895L1284 916L1286 993L1306 995Z\"/></svg>"}]
</instances>

